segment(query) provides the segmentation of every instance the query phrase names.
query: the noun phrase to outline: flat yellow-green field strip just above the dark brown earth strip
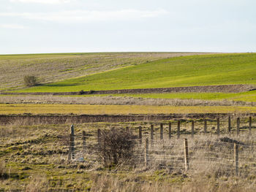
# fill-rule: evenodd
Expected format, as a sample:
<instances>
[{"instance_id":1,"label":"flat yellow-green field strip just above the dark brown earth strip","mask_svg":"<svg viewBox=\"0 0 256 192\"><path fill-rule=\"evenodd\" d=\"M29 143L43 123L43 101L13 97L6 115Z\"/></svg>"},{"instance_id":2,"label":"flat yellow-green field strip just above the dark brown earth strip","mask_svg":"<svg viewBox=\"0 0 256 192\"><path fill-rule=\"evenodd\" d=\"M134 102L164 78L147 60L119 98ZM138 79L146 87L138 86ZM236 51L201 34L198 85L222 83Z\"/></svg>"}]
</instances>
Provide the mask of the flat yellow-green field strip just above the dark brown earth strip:
<instances>
[{"instance_id":1,"label":"flat yellow-green field strip just above the dark brown earth strip","mask_svg":"<svg viewBox=\"0 0 256 192\"><path fill-rule=\"evenodd\" d=\"M85 105L85 104L0 104L0 114L170 114L170 113L242 113L256 112L247 106L150 106L150 105Z\"/></svg>"}]
</instances>

